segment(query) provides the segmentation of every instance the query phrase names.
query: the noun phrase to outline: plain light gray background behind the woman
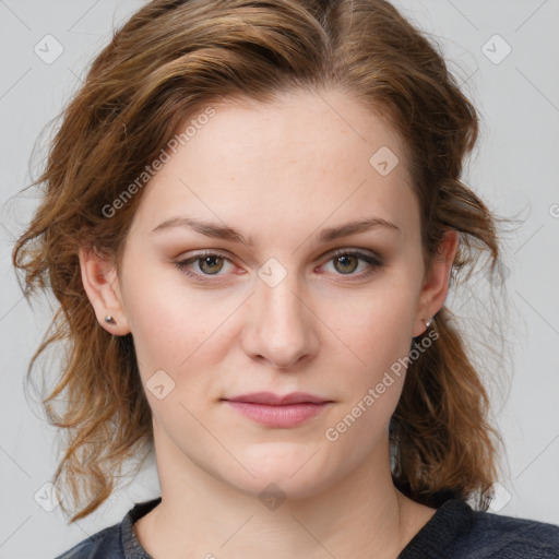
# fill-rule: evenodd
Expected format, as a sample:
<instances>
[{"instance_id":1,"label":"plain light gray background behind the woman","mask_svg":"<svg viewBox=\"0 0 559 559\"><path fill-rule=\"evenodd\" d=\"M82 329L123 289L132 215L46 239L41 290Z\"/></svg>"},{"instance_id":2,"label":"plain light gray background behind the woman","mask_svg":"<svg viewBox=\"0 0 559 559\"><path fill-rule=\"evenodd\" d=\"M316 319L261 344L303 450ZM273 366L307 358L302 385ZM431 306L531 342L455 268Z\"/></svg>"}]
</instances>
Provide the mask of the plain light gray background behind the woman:
<instances>
[{"instance_id":1,"label":"plain light gray background behind the woman","mask_svg":"<svg viewBox=\"0 0 559 559\"><path fill-rule=\"evenodd\" d=\"M33 195L16 197L36 176L37 162L40 165L39 150L29 169L35 140L79 87L112 27L142 3L0 0L0 559L53 557L119 522L133 502L158 495L152 461L132 485L71 526L60 508L47 512L37 502L49 502L40 499L40 489L53 474L58 439L44 421L37 399L25 396L23 384L28 360L48 325L49 306L29 307L23 300L10 257L14 236L36 205ZM559 523L559 2L395 3L439 41L481 116L481 138L465 182L500 215L518 214L523 219L508 237L502 257L507 277L502 287L512 309L506 324L507 359L484 361L484 378L508 451L491 507L499 514ZM44 39L46 35L63 48L51 63L34 51L36 45L47 50L45 40L52 39ZM500 60L507 45L511 52ZM56 48L49 43L48 56ZM483 277L476 282L477 287L460 299L449 299L466 325L469 298L484 292ZM497 340L486 342L498 345ZM481 356L483 347L475 344L473 352ZM498 380L503 374L510 386Z\"/></svg>"}]
</instances>

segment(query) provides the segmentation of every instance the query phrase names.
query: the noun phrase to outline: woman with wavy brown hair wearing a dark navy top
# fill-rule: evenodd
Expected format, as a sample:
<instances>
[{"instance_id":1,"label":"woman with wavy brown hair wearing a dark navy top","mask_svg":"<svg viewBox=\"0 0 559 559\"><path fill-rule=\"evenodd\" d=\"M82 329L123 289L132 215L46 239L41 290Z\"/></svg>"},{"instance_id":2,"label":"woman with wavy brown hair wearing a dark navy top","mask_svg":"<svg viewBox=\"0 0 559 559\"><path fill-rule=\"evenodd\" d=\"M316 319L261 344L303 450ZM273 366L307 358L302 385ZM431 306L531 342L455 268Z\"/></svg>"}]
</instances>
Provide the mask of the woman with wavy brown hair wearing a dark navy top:
<instances>
[{"instance_id":1,"label":"woman with wavy brown hair wearing a dark navy top","mask_svg":"<svg viewBox=\"0 0 559 559\"><path fill-rule=\"evenodd\" d=\"M14 264L60 301L34 361L69 344L62 506L152 448L162 497L61 558L558 557L487 512L499 439L444 307L499 254L476 136L384 1L155 0L116 33Z\"/></svg>"}]
</instances>

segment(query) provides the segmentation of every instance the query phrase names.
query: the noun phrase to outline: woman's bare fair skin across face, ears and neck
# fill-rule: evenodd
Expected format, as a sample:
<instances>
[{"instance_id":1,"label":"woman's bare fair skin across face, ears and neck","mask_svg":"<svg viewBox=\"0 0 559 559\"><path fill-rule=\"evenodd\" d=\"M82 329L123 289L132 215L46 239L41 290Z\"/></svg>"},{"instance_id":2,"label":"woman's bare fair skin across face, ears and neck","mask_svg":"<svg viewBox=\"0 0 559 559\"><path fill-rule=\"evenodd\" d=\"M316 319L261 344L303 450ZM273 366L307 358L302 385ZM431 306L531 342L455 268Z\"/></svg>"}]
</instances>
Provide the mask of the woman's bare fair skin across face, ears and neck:
<instances>
[{"instance_id":1,"label":"woman's bare fair skin across face, ears and neck","mask_svg":"<svg viewBox=\"0 0 559 559\"><path fill-rule=\"evenodd\" d=\"M157 370L175 382L163 400L146 390L163 501L135 533L155 558L394 558L435 513L391 480L388 425L405 376L336 441L324 433L443 305L456 233L426 274L404 144L346 93L212 106L215 117L144 187L120 273L80 252L97 319L132 333L144 386ZM400 158L386 176L369 164L381 146ZM227 224L254 245L189 227L153 233L177 216ZM397 229L319 240L372 216ZM190 262L212 283L174 263L204 249L230 259ZM379 254L382 265L336 264L336 249ZM258 275L272 258L287 274L274 287ZM221 402L255 391L333 403L304 425L271 428ZM286 498L275 510L258 498L271 483Z\"/></svg>"}]
</instances>

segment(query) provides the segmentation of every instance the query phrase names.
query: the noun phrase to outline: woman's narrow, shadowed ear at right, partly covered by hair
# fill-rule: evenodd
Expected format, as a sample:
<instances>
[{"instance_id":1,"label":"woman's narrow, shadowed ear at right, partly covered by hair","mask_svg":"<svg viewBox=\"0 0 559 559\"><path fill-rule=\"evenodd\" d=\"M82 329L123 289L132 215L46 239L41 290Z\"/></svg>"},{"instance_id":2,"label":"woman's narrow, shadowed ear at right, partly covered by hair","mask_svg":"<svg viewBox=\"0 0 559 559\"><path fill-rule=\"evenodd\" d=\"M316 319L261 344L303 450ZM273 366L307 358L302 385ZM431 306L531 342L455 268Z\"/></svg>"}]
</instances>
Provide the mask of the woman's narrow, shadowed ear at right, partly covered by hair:
<instances>
[{"instance_id":1,"label":"woman's narrow, shadowed ear at right, partly covered by hair","mask_svg":"<svg viewBox=\"0 0 559 559\"><path fill-rule=\"evenodd\" d=\"M432 258L431 269L424 278L412 335L419 336L426 330L425 322L431 320L447 299L452 263L459 249L459 234L448 230L443 234L439 249Z\"/></svg>"}]
</instances>

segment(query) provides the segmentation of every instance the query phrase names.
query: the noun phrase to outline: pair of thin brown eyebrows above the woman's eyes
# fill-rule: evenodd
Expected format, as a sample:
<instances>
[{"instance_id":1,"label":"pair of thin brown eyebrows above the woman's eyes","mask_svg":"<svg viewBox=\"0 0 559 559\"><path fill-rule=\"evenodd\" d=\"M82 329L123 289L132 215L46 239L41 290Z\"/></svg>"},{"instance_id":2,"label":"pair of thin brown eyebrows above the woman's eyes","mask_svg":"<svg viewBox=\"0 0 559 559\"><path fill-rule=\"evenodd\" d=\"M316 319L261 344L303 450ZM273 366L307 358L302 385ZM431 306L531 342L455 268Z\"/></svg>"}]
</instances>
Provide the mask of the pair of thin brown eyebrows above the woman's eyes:
<instances>
[{"instance_id":1,"label":"pair of thin brown eyebrows above the woman's eyes","mask_svg":"<svg viewBox=\"0 0 559 559\"><path fill-rule=\"evenodd\" d=\"M205 235L206 237L242 242L249 247L253 247L255 245L255 240L252 237L246 239L242 234L233 227L212 222L202 222L191 217L171 217L157 225L157 227L155 227L152 233L162 231L174 227L190 227L197 233ZM364 233L376 227L384 227L386 229L400 233L400 227L397 227L397 225L393 224L392 222L381 217L369 217L367 219L346 223L337 227L322 229L322 231L319 234L319 240L321 242L329 242L340 237L348 237L349 235Z\"/></svg>"}]
</instances>

